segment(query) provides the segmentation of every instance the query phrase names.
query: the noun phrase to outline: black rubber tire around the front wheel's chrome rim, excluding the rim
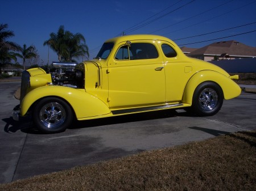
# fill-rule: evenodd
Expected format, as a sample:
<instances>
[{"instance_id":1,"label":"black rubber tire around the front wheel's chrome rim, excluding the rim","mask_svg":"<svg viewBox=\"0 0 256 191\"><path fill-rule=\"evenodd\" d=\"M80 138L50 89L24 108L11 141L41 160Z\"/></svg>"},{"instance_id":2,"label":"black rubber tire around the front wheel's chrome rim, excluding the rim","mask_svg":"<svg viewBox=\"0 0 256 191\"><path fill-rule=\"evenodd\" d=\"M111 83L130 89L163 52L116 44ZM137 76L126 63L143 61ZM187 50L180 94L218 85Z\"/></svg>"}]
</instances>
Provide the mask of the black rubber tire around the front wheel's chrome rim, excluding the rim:
<instances>
[{"instance_id":1,"label":"black rubber tire around the front wheel's chrome rim, excluding the rim","mask_svg":"<svg viewBox=\"0 0 256 191\"><path fill-rule=\"evenodd\" d=\"M46 105L47 103L52 103L52 102L59 103L60 105L62 105L62 107L65 109L65 113L66 113L66 118L65 118L65 121L63 122L63 124L54 129L47 128L46 126L44 126L42 124L42 122L40 121L40 117L39 117L39 113L40 113L40 110L42 109L42 107L44 105ZM69 107L69 105L64 100L59 99L57 97L46 97L46 98L43 98L42 100L39 100L34 105L32 116L33 116L33 121L34 121L36 127L43 133L63 132L71 125L72 120L73 120L73 112L72 112L71 107Z\"/></svg>"}]
</instances>

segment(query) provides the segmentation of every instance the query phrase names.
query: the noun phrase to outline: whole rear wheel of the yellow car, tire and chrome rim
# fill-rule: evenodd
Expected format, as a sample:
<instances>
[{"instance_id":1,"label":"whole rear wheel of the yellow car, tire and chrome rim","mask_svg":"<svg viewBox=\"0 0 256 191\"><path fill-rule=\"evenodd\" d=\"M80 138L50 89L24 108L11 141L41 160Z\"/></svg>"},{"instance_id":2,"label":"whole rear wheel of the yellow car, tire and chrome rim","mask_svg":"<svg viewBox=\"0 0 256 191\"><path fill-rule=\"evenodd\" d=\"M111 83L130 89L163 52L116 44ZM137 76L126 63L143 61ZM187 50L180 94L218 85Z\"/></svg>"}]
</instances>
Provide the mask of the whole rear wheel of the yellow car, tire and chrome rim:
<instances>
[{"instance_id":1,"label":"whole rear wheel of the yellow car, tire and chrome rim","mask_svg":"<svg viewBox=\"0 0 256 191\"><path fill-rule=\"evenodd\" d=\"M203 82L197 86L192 100L192 111L199 116L213 116L220 111L223 92L214 82Z\"/></svg>"}]
</instances>

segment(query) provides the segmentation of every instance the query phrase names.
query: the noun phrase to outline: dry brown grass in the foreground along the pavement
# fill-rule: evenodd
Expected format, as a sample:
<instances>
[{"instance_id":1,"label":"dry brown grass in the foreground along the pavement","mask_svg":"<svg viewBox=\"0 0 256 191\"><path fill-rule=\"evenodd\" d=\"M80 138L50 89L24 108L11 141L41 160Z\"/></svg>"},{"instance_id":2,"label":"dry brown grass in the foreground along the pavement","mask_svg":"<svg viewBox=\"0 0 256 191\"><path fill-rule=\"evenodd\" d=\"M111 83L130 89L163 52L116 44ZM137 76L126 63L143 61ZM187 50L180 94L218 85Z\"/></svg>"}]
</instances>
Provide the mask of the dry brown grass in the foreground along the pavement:
<instances>
[{"instance_id":1,"label":"dry brown grass in the foreground along the pavement","mask_svg":"<svg viewBox=\"0 0 256 191\"><path fill-rule=\"evenodd\" d=\"M0 190L255 190L256 131L142 152L0 185Z\"/></svg>"}]
</instances>

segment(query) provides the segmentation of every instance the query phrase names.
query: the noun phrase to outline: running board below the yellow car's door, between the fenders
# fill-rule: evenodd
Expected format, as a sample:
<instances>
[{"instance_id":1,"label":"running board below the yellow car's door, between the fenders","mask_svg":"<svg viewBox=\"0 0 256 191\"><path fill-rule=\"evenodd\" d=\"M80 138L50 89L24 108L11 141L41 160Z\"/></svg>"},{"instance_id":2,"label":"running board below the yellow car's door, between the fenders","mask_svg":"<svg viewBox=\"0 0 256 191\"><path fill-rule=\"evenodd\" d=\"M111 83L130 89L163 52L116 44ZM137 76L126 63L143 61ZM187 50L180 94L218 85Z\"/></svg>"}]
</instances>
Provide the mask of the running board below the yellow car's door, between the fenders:
<instances>
[{"instance_id":1,"label":"running board below the yellow car's door, between the fenders","mask_svg":"<svg viewBox=\"0 0 256 191\"><path fill-rule=\"evenodd\" d=\"M149 106L149 107L141 107L141 108L131 108L131 109L120 109L112 111L113 114L123 114L123 113L137 113L137 112L146 112L146 111L154 111L158 109L168 109L173 107L179 107L183 104L168 104L168 105L157 105L157 106Z\"/></svg>"}]
</instances>

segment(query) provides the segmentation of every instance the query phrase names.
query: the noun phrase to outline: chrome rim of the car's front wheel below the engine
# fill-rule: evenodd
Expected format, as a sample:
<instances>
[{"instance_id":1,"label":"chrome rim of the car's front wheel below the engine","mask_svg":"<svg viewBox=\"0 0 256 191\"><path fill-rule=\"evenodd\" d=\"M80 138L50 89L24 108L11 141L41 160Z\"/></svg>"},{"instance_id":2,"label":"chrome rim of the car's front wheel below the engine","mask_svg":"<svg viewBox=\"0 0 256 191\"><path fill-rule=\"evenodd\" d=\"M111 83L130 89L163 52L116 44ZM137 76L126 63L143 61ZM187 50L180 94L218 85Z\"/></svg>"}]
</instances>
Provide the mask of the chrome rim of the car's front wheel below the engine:
<instances>
[{"instance_id":1,"label":"chrome rim of the car's front wheel below the engine","mask_svg":"<svg viewBox=\"0 0 256 191\"><path fill-rule=\"evenodd\" d=\"M39 117L44 126L55 129L64 123L66 113L59 103L47 103L40 110Z\"/></svg>"}]
</instances>

